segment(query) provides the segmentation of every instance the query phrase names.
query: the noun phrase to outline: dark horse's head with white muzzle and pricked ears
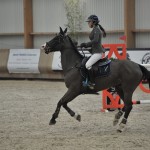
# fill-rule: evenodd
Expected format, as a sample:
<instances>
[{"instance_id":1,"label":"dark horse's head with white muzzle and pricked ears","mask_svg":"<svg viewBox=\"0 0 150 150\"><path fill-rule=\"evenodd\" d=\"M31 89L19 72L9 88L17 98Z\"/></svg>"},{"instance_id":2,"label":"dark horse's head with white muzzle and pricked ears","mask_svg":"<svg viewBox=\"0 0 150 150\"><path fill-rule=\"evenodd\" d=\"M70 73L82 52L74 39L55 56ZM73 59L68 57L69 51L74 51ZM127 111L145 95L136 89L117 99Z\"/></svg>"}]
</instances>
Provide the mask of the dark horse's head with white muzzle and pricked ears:
<instances>
[{"instance_id":1,"label":"dark horse's head with white muzzle and pricked ears","mask_svg":"<svg viewBox=\"0 0 150 150\"><path fill-rule=\"evenodd\" d=\"M60 51L64 44L64 40L66 38L67 28L63 31L60 27L60 32L56 35L52 40L46 42L42 45L42 49L45 50L45 53L48 54L50 52Z\"/></svg>"}]
</instances>

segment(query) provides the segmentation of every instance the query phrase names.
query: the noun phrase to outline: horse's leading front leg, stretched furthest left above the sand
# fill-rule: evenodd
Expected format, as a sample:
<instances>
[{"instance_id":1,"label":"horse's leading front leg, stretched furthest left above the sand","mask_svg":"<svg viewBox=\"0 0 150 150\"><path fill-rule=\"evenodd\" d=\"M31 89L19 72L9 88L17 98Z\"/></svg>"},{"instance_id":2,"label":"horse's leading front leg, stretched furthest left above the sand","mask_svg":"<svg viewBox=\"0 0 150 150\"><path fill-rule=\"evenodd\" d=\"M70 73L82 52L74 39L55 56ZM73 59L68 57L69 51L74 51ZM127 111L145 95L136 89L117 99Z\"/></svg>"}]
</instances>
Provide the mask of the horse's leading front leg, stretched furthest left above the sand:
<instances>
[{"instance_id":1,"label":"horse's leading front leg, stretched furthest left above the sand","mask_svg":"<svg viewBox=\"0 0 150 150\"><path fill-rule=\"evenodd\" d=\"M52 118L49 122L49 125L54 125L56 123L56 118L58 118L61 106L64 105L65 103L73 100L78 95L79 95L78 92L75 92L70 89L66 92L66 94L58 102L56 110L55 110L54 114L52 115ZM72 115L73 115L73 111L72 111Z\"/></svg>"}]
</instances>

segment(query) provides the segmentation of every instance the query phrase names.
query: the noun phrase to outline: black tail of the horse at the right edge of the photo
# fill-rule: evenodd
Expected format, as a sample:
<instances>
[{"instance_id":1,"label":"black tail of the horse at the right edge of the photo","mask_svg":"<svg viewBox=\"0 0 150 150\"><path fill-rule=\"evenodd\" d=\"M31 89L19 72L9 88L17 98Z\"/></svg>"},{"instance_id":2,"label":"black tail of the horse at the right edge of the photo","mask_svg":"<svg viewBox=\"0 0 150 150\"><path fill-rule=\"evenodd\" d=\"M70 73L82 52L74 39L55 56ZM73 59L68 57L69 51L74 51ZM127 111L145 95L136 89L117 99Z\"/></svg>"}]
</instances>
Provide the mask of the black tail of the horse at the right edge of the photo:
<instances>
[{"instance_id":1,"label":"black tail of the horse at the right edge of the photo","mask_svg":"<svg viewBox=\"0 0 150 150\"><path fill-rule=\"evenodd\" d=\"M142 73L143 73L143 77L142 80L147 80L149 83L149 89L150 89L150 71L148 71L144 66L139 65Z\"/></svg>"}]
</instances>

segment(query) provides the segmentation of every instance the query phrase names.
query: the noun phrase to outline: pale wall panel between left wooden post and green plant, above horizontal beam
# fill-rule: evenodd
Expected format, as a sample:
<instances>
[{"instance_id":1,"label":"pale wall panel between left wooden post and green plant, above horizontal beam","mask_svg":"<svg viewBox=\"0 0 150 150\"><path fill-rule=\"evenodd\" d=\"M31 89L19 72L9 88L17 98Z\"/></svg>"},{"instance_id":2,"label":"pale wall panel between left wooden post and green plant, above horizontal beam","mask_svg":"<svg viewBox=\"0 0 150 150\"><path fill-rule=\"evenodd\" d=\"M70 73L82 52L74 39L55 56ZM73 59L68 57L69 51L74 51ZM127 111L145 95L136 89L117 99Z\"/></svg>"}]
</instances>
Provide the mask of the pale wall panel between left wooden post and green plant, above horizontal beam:
<instances>
[{"instance_id":1,"label":"pale wall panel between left wooden post and green plant, above horizontal beam","mask_svg":"<svg viewBox=\"0 0 150 150\"><path fill-rule=\"evenodd\" d=\"M66 23L63 0L33 0L34 32L58 32Z\"/></svg>"}]
</instances>

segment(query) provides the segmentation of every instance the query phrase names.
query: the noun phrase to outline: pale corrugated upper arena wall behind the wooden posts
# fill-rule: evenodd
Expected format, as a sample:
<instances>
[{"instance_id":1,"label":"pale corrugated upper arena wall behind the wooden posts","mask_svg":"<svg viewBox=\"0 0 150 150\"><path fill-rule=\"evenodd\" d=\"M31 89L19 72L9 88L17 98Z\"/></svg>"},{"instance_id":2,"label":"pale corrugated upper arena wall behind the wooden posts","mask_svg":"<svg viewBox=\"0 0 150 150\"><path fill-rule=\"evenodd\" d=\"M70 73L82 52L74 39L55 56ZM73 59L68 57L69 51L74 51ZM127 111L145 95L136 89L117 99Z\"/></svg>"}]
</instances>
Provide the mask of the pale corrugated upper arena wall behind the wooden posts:
<instances>
[{"instance_id":1,"label":"pale corrugated upper arena wall behind the wooden posts","mask_svg":"<svg viewBox=\"0 0 150 150\"><path fill-rule=\"evenodd\" d=\"M25 48L24 46L24 0L0 1L0 48ZM125 0L80 0L83 8L83 29L78 43L88 41L89 28L85 23L90 14L97 14L100 23L107 31L103 43L122 43L124 35ZM135 0L135 48L150 47L149 0ZM132 8L132 7L131 7ZM134 9L134 7L133 7ZM8 11L9 10L9 11ZM67 23L63 0L32 0L33 11L33 47L40 45L59 32L59 26Z\"/></svg>"}]
</instances>

